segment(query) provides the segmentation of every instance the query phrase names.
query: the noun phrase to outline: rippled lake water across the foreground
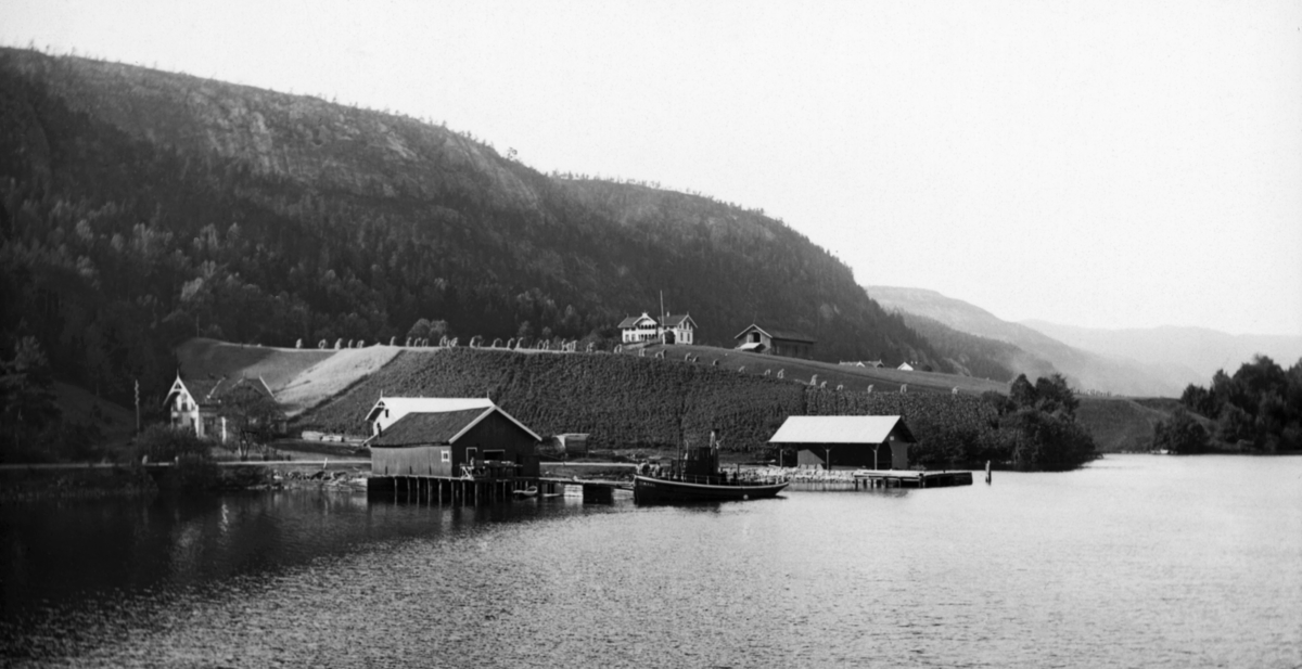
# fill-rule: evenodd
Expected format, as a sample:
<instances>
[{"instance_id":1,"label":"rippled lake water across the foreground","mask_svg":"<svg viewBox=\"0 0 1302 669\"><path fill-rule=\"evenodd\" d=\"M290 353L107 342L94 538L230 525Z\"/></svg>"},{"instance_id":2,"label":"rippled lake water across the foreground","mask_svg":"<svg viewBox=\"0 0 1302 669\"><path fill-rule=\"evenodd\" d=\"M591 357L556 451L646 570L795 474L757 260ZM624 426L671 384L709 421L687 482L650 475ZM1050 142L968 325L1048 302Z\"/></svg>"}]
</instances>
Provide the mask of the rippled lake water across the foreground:
<instances>
[{"instance_id":1,"label":"rippled lake water across the foreground","mask_svg":"<svg viewBox=\"0 0 1302 669\"><path fill-rule=\"evenodd\" d=\"M1302 458L698 508L10 505L0 536L7 665L1302 665Z\"/></svg>"}]
</instances>

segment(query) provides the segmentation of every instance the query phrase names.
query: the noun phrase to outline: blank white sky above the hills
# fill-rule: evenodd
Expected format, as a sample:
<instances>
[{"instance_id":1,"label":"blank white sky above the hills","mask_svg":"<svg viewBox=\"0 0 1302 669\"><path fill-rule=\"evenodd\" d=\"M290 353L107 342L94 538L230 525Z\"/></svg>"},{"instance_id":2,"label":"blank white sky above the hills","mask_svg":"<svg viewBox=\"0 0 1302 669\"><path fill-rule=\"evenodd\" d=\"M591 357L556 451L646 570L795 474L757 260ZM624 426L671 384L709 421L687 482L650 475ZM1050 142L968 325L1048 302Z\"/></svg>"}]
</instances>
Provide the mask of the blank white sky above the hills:
<instances>
[{"instance_id":1,"label":"blank white sky above the hills","mask_svg":"<svg viewBox=\"0 0 1302 669\"><path fill-rule=\"evenodd\" d=\"M0 0L0 42L763 207L997 316L1302 334L1302 3Z\"/></svg>"}]
</instances>

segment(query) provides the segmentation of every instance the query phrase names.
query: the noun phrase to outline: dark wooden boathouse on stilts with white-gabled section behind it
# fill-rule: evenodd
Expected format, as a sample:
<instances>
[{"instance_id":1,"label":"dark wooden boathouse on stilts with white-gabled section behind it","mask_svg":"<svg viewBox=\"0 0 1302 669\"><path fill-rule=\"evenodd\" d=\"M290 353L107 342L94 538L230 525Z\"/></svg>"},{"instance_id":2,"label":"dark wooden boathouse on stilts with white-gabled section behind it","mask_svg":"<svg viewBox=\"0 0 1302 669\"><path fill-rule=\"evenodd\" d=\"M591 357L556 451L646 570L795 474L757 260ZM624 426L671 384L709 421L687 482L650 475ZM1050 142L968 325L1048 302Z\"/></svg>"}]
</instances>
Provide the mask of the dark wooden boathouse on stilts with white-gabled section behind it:
<instances>
[{"instance_id":1,"label":"dark wooden boathouse on stilts with white-gabled section behind it","mask_svg":"<svg viewBox=\"0 0 1302 669\"><path fill-rule=\"evenodd\" d=\"M426 398L381 401L392 405L392 400ZM395 410L388 411L392 416ZM514 476L538 476L542 437L488 400L430 400L378 430L366 441L376 475L460 478L477 467L490 467L510 470Z\"/></svg>"}]
</instances>

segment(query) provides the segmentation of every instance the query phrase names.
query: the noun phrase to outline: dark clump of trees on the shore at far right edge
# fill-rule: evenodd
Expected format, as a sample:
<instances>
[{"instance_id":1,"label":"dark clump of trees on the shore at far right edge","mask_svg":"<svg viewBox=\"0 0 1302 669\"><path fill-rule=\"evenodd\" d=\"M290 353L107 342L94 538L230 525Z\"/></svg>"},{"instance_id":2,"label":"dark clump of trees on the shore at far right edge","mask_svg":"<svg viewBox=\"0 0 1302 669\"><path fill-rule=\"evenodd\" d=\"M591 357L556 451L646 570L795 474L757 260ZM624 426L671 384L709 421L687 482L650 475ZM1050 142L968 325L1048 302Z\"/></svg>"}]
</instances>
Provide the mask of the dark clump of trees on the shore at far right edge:
<instances>
[{"instance_id":1,"label":"dark clump of trees on the shore at far right edge","mask_svg":"<svg viewBox=\"0 0 1302 669\"><path fill-rule=\"evenodd\" d=\"M1256 355L1233 376L1217 371L1207 388L1190 384L1180 403L1182 410L1156 426L1154 448L1172 453L1302 450L1302 361L1285 370Z\"/></svg>"}]
</instances>

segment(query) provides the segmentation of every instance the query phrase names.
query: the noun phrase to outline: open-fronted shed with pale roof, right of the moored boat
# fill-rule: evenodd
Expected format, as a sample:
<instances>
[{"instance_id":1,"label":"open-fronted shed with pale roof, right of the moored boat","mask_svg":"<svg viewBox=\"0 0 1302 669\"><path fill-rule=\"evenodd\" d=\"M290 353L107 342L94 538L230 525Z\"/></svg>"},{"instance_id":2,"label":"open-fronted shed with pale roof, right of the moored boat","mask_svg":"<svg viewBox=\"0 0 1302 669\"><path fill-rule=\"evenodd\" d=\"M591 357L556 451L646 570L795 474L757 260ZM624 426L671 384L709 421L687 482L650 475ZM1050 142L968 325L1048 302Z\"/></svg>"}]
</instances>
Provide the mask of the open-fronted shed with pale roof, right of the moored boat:
<instances>
[{"instance_id":1,"label":"open-fronted shed with pale roof, right of the moored boat","mask_svg":"<svg viewBox=\"0 0 1302 669\"><path fill-rule=\"evenodd\" d=\"M909 469L909 444L914 441L897 415L793 415L768 440L797 449L801 465L875 470Z\"/></svg>"}]
</instances>

